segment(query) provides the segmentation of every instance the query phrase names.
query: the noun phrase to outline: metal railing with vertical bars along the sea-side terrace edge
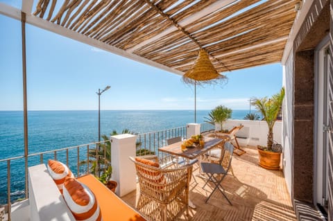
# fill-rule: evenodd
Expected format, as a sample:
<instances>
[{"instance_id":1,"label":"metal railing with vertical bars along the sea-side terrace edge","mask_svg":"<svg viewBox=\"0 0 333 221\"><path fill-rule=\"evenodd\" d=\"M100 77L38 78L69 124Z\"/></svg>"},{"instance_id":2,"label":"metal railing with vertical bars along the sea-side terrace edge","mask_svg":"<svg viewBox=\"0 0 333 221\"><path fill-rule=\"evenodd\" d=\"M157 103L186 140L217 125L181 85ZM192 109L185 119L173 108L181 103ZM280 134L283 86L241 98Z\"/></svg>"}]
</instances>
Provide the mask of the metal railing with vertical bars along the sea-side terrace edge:
<instances>
[{"instance_id":1,"label":"metal railing with vertical bars along the sea-side terrace edge","mask_svg":"<svg viewBox=\"0 0 333 221\"><path fill-rule=\"evenodd\" d=\"M212 130L214 128L213 125L210 125L209 123L201 123L200 124L200 132L207 132L209 130ZM162 163L167 163L168 161L171 161L170 154L159 152L158 148L161 148L164 145L167 145L167 139L181 136L182 138L185 138L187 134L187 127L176 127L171 128L168 130L160 130L157 132L148 132L144 134L138 134L137 135L137 155L144 155L144 154L156 154ZM8 159L0 159L0 171L6 171L7 172L7 178L2 178L2 184L4 183L4 179L7 179L6 186L7 186L7 193L5 195L0 195L0 197L7 197L7 211L10 211L11 209L11 202L14 202L16 200L25 200L27 196L28 186L24 185L27 182L25 182L26 179L28 179L28 174L26 173L27 168L30 166L35 166L40 163L44 163L44 161L48 159L55 159L59 161L66 161L66 165L69 167L69 169L74 173L75 177L80 177L80 175L85 175L89 173L89 169L91 169L91 162L92 157L90 156L92 154L91 150L96 150L96 154L94 155L94 161L96 159L99 159L99 154L104 154L103 159L105 163L106 159L106 152L105 148L103 148L103 152L98 152L99 145L106 145L107 142L110 141L101 141L101 142L95 142L95 143L89 143L89 144L83 144L83 145L76 145L69 148L60 148L56 150L48 150L44 152L37 152L33 154L28 154L26 157L19 156L19 157L11 157ZM94 148L93 148L94 147ZM28 161L28 163L24 163L24 161ZM3 165L5 164L5 165ZM18 170L22 169L22 171L16 171L15 176L11 176L12 173L12 165L15 166L15 169ZM24 167L22 165L25 165ZM18 168L17 168L18 167ZM22 181L22 177L24 176L25 180ZM12 179L15 178L14 182L12 182ZM21 184L21 186L24 186L24 191L19 190L20 194L17 197L12 197L12 184ZM0 181L1 184L1 181ZM7 195L7 196L6 196ZM21 197L19 198L18 197ZM0 202L1 204L1 202ZM10 213L8 213L8 220L10 220Z\"/></svg>"}]
</instances>

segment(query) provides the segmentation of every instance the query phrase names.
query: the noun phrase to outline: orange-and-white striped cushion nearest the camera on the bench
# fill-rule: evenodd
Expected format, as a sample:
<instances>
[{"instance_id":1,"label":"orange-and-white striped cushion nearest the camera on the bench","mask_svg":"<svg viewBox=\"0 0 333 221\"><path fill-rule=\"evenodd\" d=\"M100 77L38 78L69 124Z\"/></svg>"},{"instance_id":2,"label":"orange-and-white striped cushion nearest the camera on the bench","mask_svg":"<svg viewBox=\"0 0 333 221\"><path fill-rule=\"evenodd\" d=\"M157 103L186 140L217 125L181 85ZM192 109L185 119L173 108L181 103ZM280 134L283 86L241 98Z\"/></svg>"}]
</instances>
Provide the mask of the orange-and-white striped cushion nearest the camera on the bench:
<instances>
[{"instance_id":1,"label":"orange-and-white striped cushion nearest the camera on the bench","mask_svg":"<svg viewBox=\"0 0 333 221\"><path fill-rule=\"evenodd\" d=\"M66 177L63 196L76 220L102 220L96 197L85 184L74 178Z\"/></svg>"}]
</instances>

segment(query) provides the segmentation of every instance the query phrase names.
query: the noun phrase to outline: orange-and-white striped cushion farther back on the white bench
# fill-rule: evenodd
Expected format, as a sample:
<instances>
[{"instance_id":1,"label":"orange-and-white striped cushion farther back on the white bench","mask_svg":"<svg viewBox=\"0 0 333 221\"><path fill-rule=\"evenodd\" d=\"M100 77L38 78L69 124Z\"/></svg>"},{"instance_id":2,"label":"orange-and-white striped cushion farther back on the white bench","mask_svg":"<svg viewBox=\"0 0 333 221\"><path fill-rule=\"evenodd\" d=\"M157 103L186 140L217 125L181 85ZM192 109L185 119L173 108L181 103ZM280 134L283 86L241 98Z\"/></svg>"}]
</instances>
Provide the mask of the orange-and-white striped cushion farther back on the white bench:
<instances>
[{"instance_id":1,"label":"orange-and-white striped cushion farther back on the white bench","mask_svg":"<svg viewBox=\"0 0 333 221\"><path fill-rule=\"evenodd\" d=\"M71 173L71 170L69 170L69 168L60 161L49 159L47 163L47 170L49 170L52 179L57 184L60 193L62 193L65 177L74 177L73 173Z\"/></svg>"}]
</instances>

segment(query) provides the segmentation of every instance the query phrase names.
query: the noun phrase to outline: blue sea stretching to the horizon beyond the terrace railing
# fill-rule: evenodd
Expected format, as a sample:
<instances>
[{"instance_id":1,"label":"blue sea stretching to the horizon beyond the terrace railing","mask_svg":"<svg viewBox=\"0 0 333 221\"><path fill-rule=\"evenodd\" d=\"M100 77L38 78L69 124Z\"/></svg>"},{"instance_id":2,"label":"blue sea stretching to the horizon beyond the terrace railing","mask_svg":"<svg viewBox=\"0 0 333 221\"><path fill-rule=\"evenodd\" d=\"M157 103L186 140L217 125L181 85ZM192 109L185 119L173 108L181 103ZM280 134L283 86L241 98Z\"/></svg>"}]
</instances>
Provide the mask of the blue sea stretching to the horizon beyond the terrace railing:
<instances>
[{"instance_id":1,"label":"blue sea stretching to the horizon beyond the terrace railing","mask_svg":"<svg viewBox=\"0 0 333 221\"><path fill-rule=\"evenodd\" d=\"M196 123L203 123L210 110L197 110ZM233 110L232 119L243 119L248 110ZM7 159L24 155L22 111L0 111L0 204L7 202ZM194 110L101 110L101 134L128 129L142 134L194 123ZM28 111L28 154L98 141L98 112ZM46 159L48 156L44 156ZM49 157L53 157L49 156ZM40 157L29 158L36 165ZM45 163L45 162L44 162ZM24 197L24 159L10 163L10 198Z\"/></svg>"}]
</instances>

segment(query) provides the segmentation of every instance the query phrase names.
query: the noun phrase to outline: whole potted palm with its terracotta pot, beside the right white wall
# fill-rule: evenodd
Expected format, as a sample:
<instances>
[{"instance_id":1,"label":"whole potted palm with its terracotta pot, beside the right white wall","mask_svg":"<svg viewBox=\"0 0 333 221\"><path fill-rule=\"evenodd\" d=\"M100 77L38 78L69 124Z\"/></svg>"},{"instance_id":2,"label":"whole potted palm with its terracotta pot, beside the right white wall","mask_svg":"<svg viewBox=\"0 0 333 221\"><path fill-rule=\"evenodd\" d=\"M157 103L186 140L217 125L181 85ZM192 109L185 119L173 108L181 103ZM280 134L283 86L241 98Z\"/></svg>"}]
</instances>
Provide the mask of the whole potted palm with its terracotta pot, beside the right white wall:
<instances>
[{"instance_id":1,"label":"whole potted palm with its terracotta pot, beside the right white wall","mask_svg":"<svg viewBox=\"0 0 333 221\"><path fill-rule=\"evenodd\" d=\"M259 165L269 170L280 169L280 159L282 147L273 143L273 127L277 120L282 101L284 98L284 88L271 98L255 98L251 105L255 106L262 113L264 121L268 125L267 146L258 146Z\"/></svg>"}]
</instances>

